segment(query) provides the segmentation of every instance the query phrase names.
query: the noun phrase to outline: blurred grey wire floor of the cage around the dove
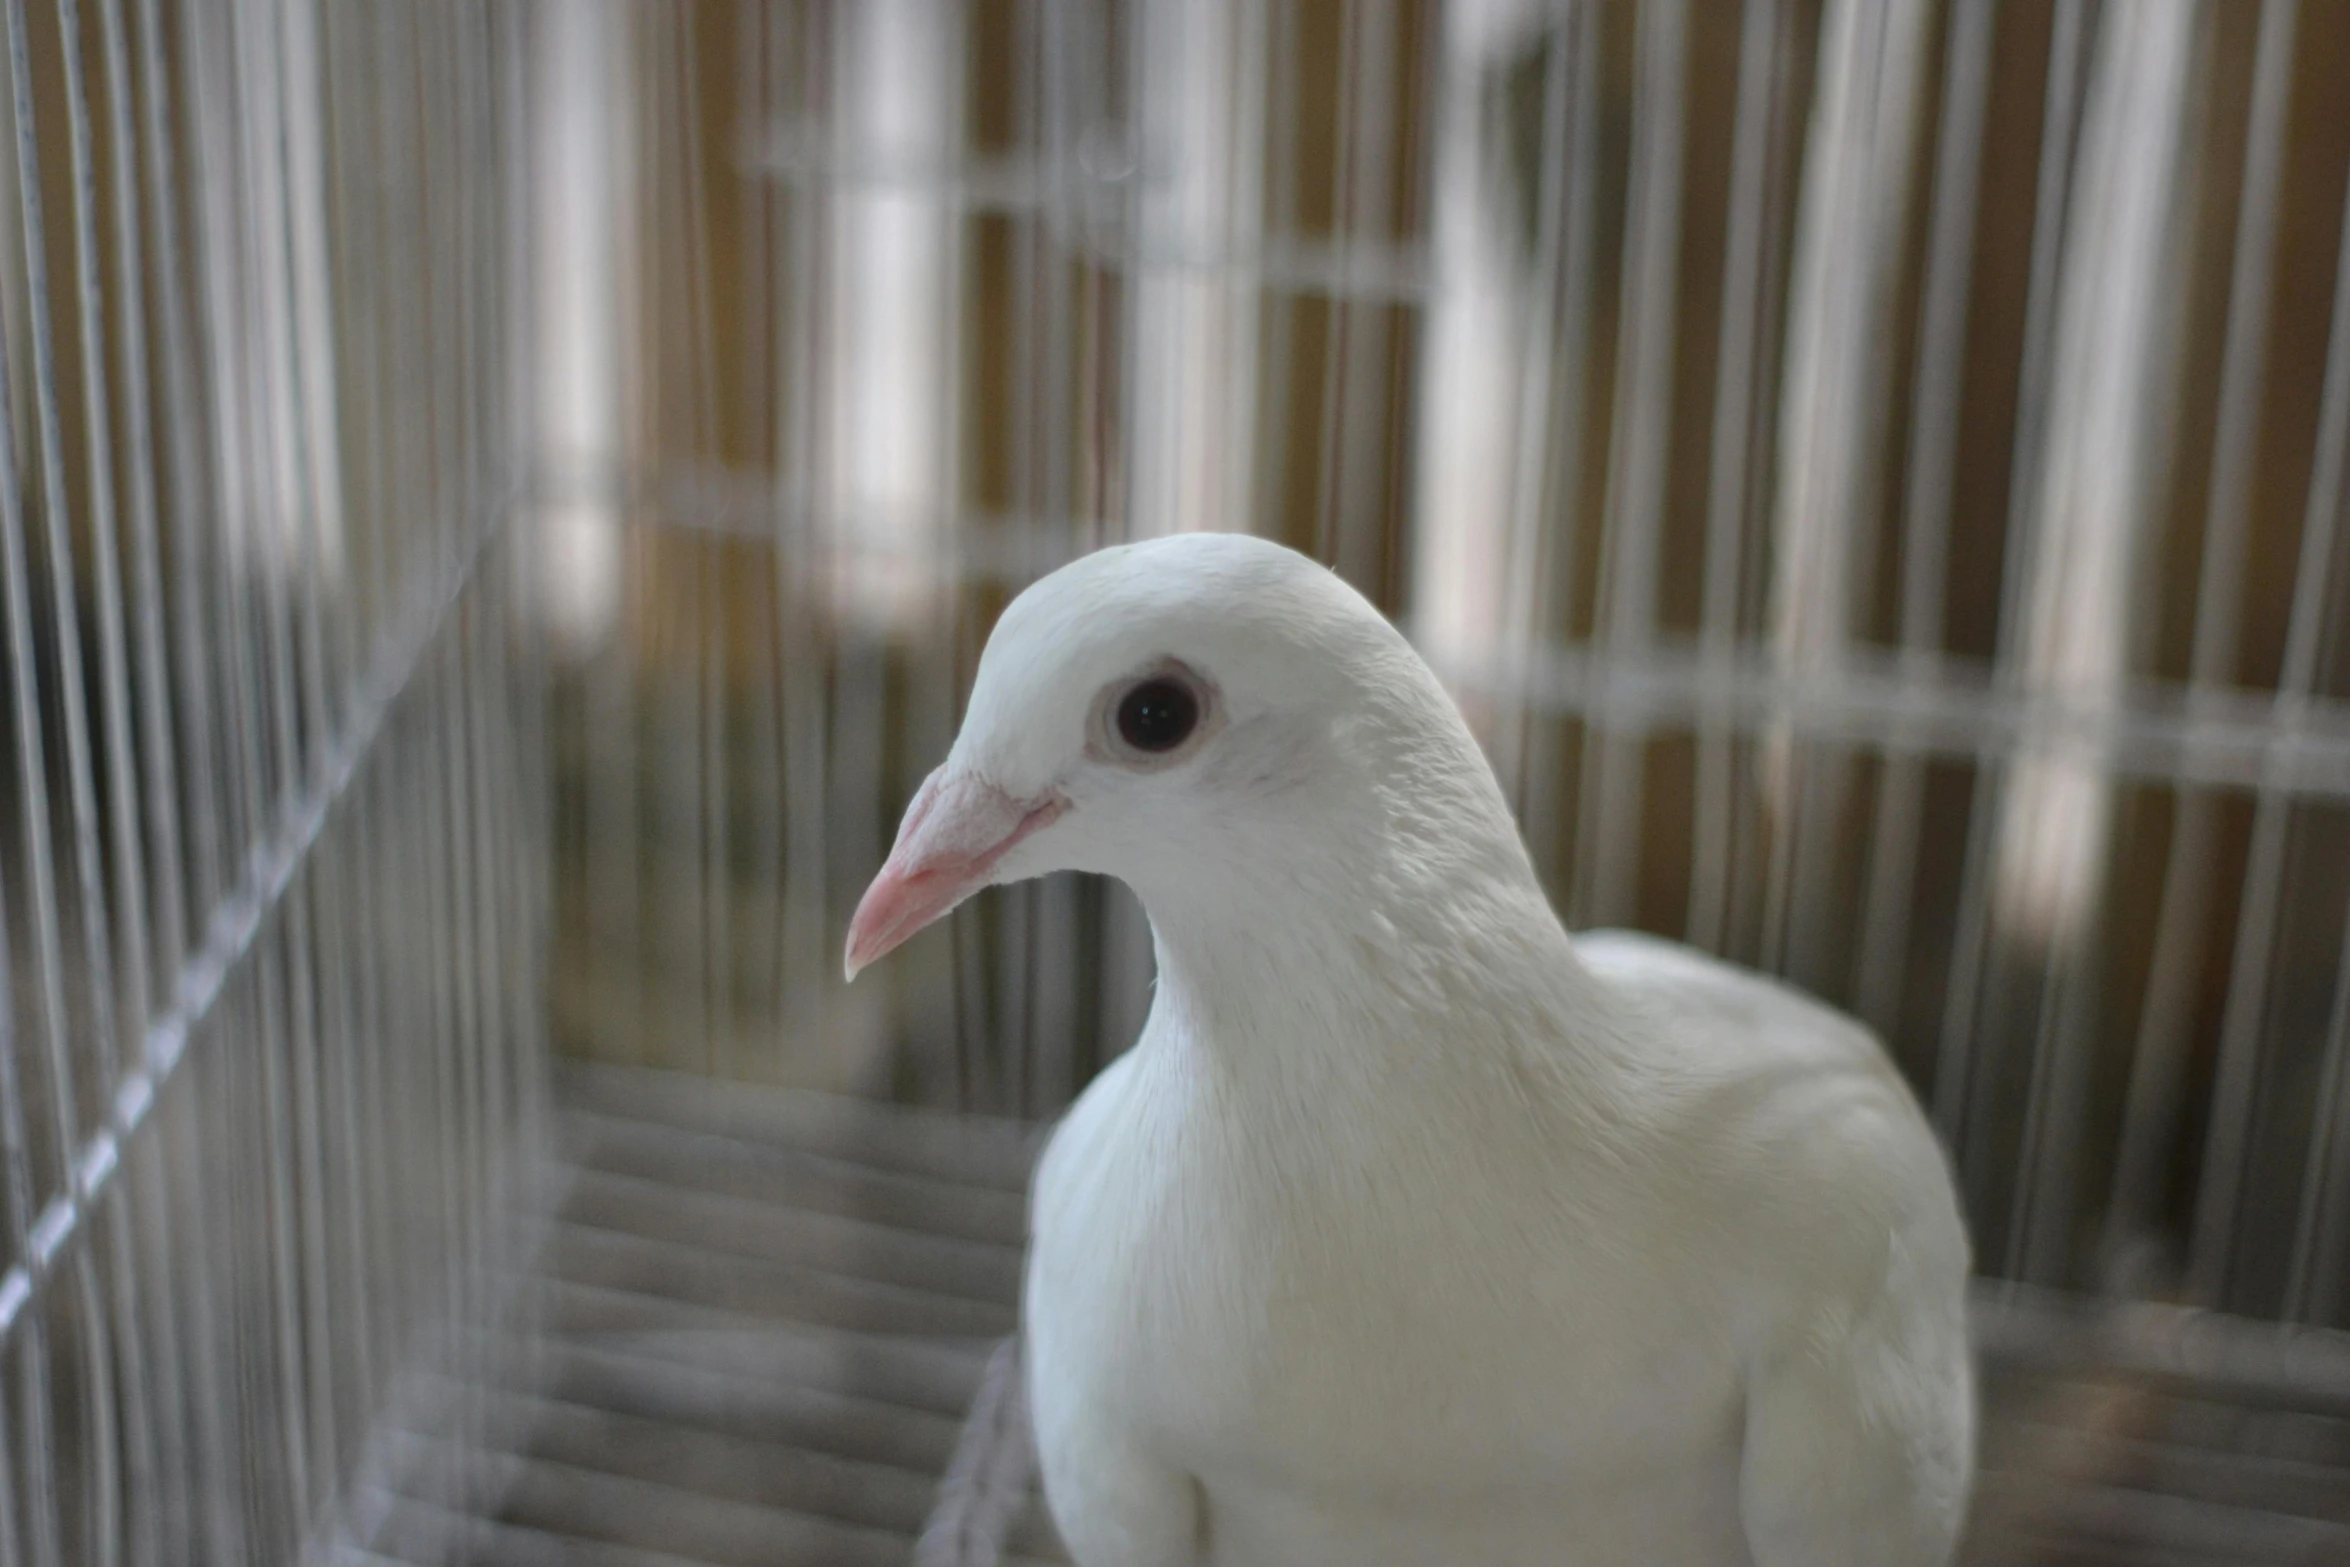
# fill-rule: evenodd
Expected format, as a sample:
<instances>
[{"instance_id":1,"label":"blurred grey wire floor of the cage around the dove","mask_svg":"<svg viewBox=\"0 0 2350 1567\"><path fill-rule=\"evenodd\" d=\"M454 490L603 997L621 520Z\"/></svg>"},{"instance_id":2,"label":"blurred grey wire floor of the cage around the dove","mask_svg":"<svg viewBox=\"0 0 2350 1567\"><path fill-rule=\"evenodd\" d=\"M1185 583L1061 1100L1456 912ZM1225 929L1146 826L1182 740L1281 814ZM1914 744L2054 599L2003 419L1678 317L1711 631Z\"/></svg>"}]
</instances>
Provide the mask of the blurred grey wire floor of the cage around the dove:
<instances>
[{"instance_id":1,"label":"blurred grey wire floor of the cage around the dove","mask_svg":"<svg viewBox=\"0 0 2350 1567\"><path fill-rule=\"evenodd\" d=\"M559 1102L517 1325L404 1400L345 1560L907 1562L1013 1325L1029 1132L604 1067ZM1995 1318L1969 1567L2350 1562L2338 1344L2256 1386ZM1034 1501L1013 1553L1065 1560Z\"/></svg>"}]
</instances>

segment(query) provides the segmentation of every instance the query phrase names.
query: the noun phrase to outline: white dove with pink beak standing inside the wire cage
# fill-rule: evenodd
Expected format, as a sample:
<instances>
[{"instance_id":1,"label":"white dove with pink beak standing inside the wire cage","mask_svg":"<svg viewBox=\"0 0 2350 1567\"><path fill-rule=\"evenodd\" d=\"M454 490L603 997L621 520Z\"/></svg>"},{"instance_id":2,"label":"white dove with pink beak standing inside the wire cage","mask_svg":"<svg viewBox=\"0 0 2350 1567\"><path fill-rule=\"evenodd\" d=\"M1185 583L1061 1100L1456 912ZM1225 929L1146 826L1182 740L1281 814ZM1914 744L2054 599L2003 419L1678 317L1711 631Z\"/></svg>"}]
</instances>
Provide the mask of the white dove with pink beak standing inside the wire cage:
<instances>
[{"instance_id":1,"label":"white dove with pink beak standing inside the wire cage","mask_svg":"<svg viewBox=\"0 0 2350 1567\"><path fill-rule=\"evenodd\" d=\"M1088 554L987 641L851 977L980 886L1140 897L1159 987L1036 1170L1081 1567L1929 1567L1969 1245L1856 1022L1567 937L1476 740L1323 566Z\"/></svg>"}]
</instances>

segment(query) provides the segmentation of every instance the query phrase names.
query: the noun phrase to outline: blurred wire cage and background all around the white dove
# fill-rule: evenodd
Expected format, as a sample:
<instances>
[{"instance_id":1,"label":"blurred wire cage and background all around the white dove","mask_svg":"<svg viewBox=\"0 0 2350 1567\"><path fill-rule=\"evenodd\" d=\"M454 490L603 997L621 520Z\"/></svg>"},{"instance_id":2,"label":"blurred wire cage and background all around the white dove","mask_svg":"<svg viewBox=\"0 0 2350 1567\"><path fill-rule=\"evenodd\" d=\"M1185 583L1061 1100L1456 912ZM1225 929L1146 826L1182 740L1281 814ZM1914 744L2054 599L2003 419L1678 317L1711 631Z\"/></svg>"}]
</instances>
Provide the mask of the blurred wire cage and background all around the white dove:
<instances>
[{"instance_id":1,"label":"blurred wire cage and background all around the white dove","mask_svg":"<svg viewBox=\"0 0 2350 1567\"><path fill-rule=\"evenodd\" d=\"M846 919L1177 529L1405 625L1572 926L1885 1034L1969 1562L2350 1562L2350 7L9 0L5 87L0 1562L905 1562L1149 933Z\"/></svg>"}]
</instances>

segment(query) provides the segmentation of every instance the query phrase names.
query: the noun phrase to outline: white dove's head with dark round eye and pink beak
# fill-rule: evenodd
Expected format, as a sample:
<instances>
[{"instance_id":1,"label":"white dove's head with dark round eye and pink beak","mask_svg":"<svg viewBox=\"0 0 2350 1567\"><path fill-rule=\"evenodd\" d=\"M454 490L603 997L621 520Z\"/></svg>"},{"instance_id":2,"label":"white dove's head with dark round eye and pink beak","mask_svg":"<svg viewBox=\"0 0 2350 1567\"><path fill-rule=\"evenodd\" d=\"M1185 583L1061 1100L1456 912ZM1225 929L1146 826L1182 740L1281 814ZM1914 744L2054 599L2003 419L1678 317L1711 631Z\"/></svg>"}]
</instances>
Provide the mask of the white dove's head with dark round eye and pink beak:
<instances>
[{"instance_id":1,"label":"white dove's head with dark round eye and pink beak","mask_svg":"<svg viewBox=\"0 0 2350 1567\"><path fill-rule=\"evenodd\" d=\"M846 970L985 886L1060 869L1119 876L1154 921L1187 888L1307 872L1288 860L1328 853L1429 756L1466 756L1492 794L1426 665L1325 566L1243 533L1100 550L996 620Z\"/></svg>"}]
</instances>

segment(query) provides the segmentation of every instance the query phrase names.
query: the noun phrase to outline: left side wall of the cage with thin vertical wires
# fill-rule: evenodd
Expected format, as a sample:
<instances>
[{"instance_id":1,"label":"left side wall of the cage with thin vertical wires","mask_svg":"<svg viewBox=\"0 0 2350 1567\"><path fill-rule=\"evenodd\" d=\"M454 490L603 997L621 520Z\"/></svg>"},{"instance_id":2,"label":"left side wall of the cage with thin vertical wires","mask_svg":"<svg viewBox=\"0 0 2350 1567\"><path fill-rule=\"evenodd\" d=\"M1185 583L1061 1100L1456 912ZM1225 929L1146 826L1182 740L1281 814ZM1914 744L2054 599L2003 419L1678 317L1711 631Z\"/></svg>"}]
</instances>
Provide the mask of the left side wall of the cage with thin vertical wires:
<instances>
[{"instance_id":1,"label":"left side wall of the cage with thin vertical wires","mask_svg":"<svg viewBox=\"0 0 2350 1567\"><path fill-rule=\"evenodd\" d=\"M501 1311L489 1236L536 1179L543 1095L505 1085L540 1076L545 811L501 738L531 681L491 653L524 493L494 82L524 38L435 14L400 82L348 49L397 9L7 9L7 1562L329 1534L395 1367ZM362 162L364 103L416 94L439 143ZM430 357L381 352L390 294L439 312ZM385 789L435 726L463 747L435 787L465 782L437 813ZM461 843L435 919L409 888ZM463 1022L385 1008L465 975ZM418 1095L446 1041L470 1076Z\"/></svg>"}]
</instances>

